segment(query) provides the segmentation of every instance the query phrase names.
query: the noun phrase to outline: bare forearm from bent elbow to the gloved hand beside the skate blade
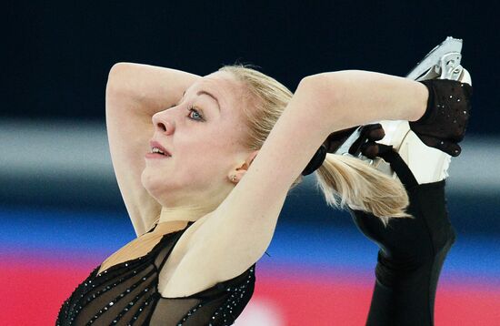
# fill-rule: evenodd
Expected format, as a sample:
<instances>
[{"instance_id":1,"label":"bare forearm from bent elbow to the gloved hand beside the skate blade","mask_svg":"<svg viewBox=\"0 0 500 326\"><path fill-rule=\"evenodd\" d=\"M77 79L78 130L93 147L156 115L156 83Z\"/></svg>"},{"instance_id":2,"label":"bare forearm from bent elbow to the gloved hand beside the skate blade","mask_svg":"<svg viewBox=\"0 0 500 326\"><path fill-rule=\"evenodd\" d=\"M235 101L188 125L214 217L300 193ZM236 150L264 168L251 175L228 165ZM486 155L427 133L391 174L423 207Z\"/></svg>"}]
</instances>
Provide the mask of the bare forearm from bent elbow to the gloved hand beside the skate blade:
<instances>
[{"instance_id":1,"label":"bare forearm from bent elbow to the gloved hand beside the skate blade","mask_svg":"<svg viewBox=\"0 0 500 326\"><path fill-rule=\"evenodd\" d=\"M307 76L301 83L330 132L380 120L415 121L428 98L427 88L414 80L361 70Z\"/></svg>"}]
</instances>

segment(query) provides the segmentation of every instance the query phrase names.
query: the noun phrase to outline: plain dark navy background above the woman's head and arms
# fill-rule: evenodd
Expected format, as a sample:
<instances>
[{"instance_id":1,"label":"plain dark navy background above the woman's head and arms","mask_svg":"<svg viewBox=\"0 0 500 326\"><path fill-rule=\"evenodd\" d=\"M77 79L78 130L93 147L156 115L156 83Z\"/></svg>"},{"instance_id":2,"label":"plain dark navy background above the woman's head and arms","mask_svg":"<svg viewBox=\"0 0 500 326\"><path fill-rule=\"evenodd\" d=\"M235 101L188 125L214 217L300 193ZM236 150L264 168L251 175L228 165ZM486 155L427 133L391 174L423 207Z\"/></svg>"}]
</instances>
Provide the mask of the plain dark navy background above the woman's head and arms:
<instances>
[{"instance_id":1,"label":"plain dark navy background above the woman's head and arms","mask_svg":"<svg viewBox=\"0 0 500 326\"><path fill-rule=\"evenodd\" d=\"M475 86L469 133L499 133L494 2L51 1L4 10L0 117L104 120L106 76L120 61L206 75L239 60L294 90L325 71L405 76L454 36Z\"/></svg>"}]
</instances>

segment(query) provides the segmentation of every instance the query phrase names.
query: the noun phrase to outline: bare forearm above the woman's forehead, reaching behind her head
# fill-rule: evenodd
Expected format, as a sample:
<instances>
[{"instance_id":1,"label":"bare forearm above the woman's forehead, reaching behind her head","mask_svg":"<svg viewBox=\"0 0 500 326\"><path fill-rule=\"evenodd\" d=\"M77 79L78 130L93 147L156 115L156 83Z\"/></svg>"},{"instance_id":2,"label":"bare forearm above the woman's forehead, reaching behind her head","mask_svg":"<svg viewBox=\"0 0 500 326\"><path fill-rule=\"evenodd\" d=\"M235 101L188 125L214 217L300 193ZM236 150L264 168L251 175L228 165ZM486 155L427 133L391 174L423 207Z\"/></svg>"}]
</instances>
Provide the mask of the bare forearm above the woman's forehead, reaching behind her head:
<instances>
[{"instance_id":1,"label":"bare forearm above the woman's forehead, reaching behind her head","mask_svg":"<svg viewBox=\"0 0 500 326\"><path fill-rule=\"evenodd\" d=\"M109 72L106 98L119 99L122 109L149 117L171 107L201 76L184 71L133 63L118 63Z\"/></svg>"}]
</instances>

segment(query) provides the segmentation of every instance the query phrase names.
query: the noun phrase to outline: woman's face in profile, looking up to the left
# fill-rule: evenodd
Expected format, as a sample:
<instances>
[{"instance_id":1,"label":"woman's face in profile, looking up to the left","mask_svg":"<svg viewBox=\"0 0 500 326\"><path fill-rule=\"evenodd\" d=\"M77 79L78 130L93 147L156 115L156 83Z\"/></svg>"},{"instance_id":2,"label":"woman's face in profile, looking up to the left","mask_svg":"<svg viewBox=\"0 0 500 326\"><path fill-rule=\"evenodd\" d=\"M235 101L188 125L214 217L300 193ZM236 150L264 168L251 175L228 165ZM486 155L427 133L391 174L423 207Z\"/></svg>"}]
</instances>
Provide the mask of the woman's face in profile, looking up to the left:
<instances>
[{"instance_id":1,"label":"woman's face in profile, looking up to the left","mask_svg":"<svg viewBox=\"0 0 500 326\"><path fill-rule=\"evenodd\" d=\"M186 89L174 107L153 116L152 139L171 157L145 158L141 180L162 205L202 203L234 187L228 175L250 154L242 145L243 91L230 73L215 72Z\"/></svg>"}]
</instances>

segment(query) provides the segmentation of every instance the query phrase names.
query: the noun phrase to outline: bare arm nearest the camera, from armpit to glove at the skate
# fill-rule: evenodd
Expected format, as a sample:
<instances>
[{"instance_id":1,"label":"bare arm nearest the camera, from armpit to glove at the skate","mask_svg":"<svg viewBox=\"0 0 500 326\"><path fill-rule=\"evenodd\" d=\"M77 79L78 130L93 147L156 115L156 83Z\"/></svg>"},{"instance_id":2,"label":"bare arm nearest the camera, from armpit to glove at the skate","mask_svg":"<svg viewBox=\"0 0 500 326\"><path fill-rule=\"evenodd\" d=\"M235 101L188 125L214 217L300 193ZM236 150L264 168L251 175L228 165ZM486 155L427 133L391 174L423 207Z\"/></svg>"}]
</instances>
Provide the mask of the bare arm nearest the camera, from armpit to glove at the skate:
<instances>
[{"instance_id":1,"label":"bare arm nearest the camera, from armpit to glove at the skate","mask_svg":"<svg viewBox=\"0 0 500 326\"><path fill-rule=\"evenodd\" d=\"M192 242L179 241L189 250L163 293L195 293L245 271L269 246L289 188L331 132L417 119L426 92L418 82L364 71L305 77L244 178L201 227L186 231Z\"/></svg>"}]
</instances>

